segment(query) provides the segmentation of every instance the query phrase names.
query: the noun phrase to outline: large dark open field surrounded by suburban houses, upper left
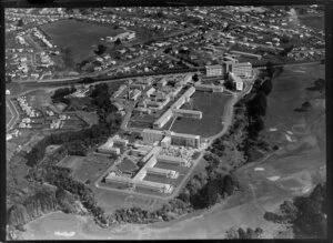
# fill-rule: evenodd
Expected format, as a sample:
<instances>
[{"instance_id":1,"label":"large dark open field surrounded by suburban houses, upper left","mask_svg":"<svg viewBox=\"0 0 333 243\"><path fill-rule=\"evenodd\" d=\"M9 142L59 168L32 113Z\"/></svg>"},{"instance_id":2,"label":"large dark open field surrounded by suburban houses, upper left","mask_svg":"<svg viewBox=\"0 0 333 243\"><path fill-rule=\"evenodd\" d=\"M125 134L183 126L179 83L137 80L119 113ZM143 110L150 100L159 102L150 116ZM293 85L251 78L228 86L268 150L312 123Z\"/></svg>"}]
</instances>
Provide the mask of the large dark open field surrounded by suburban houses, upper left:
<instances>
[{"instance_id":1,"label":"large dark open field surrounded by suburban houses, upper left","mask_svg":"<svg viewBox=\"0 0 333 243\"><path fill-rule=\"evenodd\" d=\"M122 32L121 29L102 27L77 20L60 20L40 27L60 48L70 48L74 62L94 55L93 50L101 38L113 37Z\"/></svg>"}]
</instances>

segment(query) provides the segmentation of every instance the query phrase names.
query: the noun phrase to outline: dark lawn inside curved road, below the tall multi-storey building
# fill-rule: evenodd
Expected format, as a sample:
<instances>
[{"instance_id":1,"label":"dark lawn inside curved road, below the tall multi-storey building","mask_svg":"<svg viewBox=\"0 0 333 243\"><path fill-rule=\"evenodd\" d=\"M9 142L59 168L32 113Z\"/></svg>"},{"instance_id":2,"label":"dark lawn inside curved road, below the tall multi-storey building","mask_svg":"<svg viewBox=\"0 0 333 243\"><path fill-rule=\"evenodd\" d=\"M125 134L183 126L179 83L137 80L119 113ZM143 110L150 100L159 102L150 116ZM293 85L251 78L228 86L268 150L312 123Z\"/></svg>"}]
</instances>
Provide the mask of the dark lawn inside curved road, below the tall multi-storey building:
<instances>
[{"instance_id":1,"label":"dark lawn inside curved road, below the tall multi-storey building","mask_svg":"<svg viewBox=\"0 0 333 243\"><path fill-rule=\"evenodd\" d=\"M223 93L195 92L192 99L193 109L202 111L202 119L181 118L175 120L171 131L198 134L203 138L219 133L223 128L224 105L230 97Z\"/></svg>"}]
</instances>

